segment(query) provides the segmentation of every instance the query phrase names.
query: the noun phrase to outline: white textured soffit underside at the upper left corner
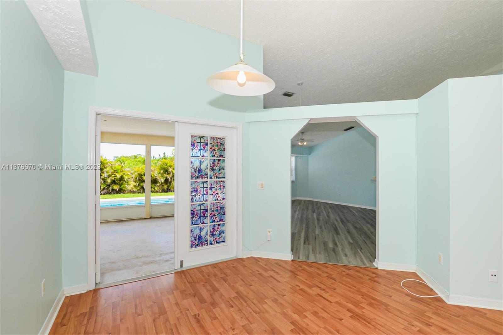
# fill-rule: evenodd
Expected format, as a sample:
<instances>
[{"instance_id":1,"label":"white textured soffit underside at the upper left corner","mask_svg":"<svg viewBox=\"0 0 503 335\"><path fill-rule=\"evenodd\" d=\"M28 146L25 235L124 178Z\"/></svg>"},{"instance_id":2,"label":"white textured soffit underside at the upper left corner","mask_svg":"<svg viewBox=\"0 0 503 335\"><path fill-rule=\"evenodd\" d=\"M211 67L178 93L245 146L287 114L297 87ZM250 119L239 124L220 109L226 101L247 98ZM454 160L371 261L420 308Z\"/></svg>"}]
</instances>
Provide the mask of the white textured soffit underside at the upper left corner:
<instances>
[{"instance_id":1,"label":"white textured soffit underside at the upper left corner","mask_svg":"<svg viewBox=\"0 0 503 335\"><path fill-rule=\"evenodd\" d=\"M78 0L25 0L59 62L67 71L97 75Z\"/></svg>"}]
</instances>

